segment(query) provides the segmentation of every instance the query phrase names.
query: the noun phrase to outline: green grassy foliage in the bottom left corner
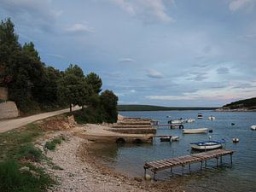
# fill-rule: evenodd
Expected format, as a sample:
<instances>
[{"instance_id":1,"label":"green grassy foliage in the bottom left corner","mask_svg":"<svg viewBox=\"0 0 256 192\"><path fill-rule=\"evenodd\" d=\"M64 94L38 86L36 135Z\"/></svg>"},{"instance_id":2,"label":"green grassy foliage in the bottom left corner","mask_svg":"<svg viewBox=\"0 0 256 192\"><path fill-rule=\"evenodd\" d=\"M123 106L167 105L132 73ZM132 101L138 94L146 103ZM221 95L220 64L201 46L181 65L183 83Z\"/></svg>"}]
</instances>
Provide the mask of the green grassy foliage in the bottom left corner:
<instances>
[{"instance_id":1,"label":"green grassy foliage in the bottom left corner","mask_svg":"<svg viewBox=\"0 0 256 192\"><path fill-rule=\"evenodd\" d=\"M54 181L42 170L33 166L38 177L31 172L20 172L16 160L6 160L0 163L0 191L1 192L43 192Z\"/></svg>"}]
</instances>

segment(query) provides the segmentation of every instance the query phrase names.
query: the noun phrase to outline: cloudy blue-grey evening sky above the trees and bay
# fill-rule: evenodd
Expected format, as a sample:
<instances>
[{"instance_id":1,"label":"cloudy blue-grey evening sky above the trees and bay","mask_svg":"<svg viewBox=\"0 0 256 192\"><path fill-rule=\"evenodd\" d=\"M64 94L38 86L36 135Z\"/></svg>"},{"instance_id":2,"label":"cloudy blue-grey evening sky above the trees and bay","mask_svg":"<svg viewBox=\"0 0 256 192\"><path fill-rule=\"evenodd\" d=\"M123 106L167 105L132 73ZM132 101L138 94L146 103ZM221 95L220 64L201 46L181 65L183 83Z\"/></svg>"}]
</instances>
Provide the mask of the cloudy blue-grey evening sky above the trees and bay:
<instances>
[{"instance_id":1,"label":"cloudy blue-grey evening sky above the trees and bay","mask_svg":"<svg viewBox=\"0 0 256 192\"><path fill-rule=\"evenodd\" d=\"M0 0L7 17L41 61L98 74L119 104L256 96L256 0Z\"/></svg>"}]
</instances>

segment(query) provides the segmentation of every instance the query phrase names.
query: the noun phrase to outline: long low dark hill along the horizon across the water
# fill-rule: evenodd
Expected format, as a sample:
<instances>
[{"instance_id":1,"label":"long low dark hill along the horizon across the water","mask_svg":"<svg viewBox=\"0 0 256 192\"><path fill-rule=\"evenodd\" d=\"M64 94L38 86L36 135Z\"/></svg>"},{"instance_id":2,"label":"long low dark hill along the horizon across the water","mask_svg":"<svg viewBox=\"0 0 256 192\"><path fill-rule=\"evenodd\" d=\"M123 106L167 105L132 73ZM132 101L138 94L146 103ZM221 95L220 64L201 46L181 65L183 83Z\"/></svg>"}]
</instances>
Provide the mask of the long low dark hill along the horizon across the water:
<instances>
[{"instance_id":1,"label":"long low dark hill along the horizon across the water","mask_svg":"<svg viewBox=\"0 0 256 192\"><path fill-rule=\"evenodd\" d=\"M171 111L171 110L214 110L216 108L201 108L201 107L162 107L152 105L118 105L119 111Z\"/></svg>"}]
</instances>

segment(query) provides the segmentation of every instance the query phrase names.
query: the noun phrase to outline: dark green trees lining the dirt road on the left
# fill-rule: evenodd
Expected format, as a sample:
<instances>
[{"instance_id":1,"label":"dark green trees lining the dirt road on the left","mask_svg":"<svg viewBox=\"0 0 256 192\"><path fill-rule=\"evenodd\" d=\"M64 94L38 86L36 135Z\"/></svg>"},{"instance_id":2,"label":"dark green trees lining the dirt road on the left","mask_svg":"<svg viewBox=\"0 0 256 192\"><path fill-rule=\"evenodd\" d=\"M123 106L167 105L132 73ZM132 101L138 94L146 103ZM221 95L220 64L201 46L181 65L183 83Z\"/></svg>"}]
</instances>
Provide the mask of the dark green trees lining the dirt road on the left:
<instances>
[{"instance_id":1,"label":"dark green trees lining the dirt road on the left","mask_svg":"<svg viewBox=\"0 0 256 192\"><path fill-rule=\"evenodd\" d=\"M19 43L9 18L0 24L0 86L8 88L9 100L21 113L79 105L83 110L75 115L82 121L117 119L118 97L111 90L102 91L102 79L96 73L84 75L72 64L65 71L47 66L32 42Z\"/></svg>"}]
</instances>

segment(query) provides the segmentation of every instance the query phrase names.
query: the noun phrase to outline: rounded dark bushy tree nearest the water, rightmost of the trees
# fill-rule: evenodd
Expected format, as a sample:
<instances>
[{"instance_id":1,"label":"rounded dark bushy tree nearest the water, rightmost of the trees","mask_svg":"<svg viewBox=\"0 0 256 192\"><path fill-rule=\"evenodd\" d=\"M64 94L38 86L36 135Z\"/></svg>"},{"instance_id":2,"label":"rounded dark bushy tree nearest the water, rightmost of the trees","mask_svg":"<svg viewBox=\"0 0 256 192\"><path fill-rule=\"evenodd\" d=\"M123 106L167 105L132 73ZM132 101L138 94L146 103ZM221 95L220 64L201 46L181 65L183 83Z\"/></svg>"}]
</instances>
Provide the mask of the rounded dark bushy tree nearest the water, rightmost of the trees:
<instances>
[{"instance_id":1,"label":"rounded dark bushy tree nearest the water, rightmost of the trees","mask_svg":"<svg viewBox=\"0 0 256 192\"><path fill-rule=\"evenodd\" d=\"M118 111L117 102L119 98L113 94L112 90L105 90L101 94L102 108L105 112L104 120L108 123L117 121Z\"/></svg>"}]
</instances>

